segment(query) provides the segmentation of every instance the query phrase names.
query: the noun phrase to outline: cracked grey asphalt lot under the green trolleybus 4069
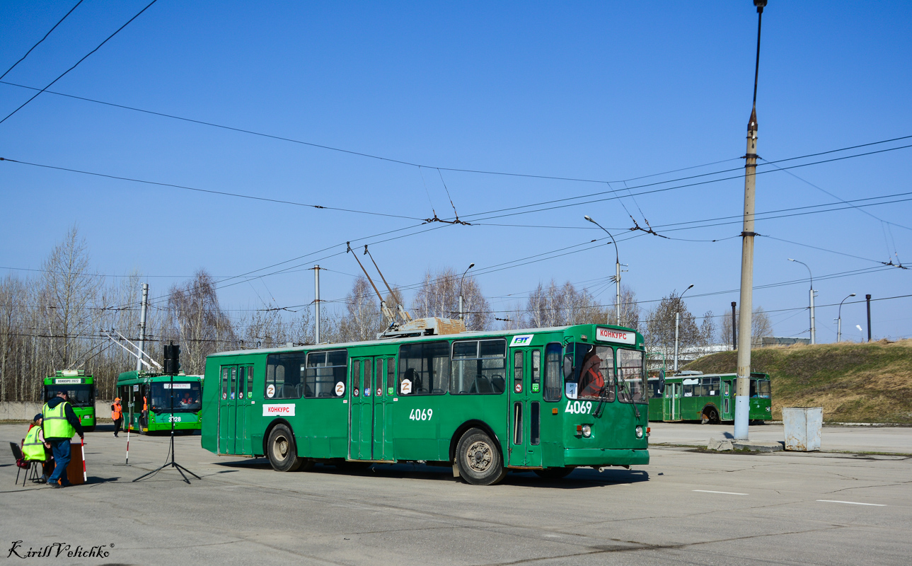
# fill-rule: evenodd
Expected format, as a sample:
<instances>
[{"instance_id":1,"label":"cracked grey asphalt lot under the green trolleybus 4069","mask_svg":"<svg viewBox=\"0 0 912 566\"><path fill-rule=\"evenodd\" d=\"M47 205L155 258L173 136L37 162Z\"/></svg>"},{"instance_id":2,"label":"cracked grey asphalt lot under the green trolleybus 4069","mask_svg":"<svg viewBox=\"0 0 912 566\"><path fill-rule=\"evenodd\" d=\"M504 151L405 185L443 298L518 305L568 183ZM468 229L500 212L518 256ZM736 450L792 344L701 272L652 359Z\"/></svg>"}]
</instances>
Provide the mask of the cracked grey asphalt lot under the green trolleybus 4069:
<instances>
[{"instance_id":1,"label":"cracked grey asphalt lot under the green trolleybus 4069","mask_svg":"<svg viewBox=\"0 0 912 566\"><path fill-rule=\"evenodd\" d=\"M670 437L665 427L654 438ZM177 461L202 477L188 485L174 470L131 482L164 463L168 438L132 436L124 466L126 438L104 428L86 435L84 486L15 486L3 451L3 550L59 543L60 555L51 546L51 556L24 563L184 566L857 566L907 564L912 554L912 458L903 456L653 447L650 465L631 470L581 468L560 481L516 473L476 487L418 465L278 473L264 459L219 458L200 437L177 437ZM894 429L869 432L885 430ZM4 448L25 431L0 425ZM107 556L66 556L78 547Z\"/></svg>"}]
</instances>

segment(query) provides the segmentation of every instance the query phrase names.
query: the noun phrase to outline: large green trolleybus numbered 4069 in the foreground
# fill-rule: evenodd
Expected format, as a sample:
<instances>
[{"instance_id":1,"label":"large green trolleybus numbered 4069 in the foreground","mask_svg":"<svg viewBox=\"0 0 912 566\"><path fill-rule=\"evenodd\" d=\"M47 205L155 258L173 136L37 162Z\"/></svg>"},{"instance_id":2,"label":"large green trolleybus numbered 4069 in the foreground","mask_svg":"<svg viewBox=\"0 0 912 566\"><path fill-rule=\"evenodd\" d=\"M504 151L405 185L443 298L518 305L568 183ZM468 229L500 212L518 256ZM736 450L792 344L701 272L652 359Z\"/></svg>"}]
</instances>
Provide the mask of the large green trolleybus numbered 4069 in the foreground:
<instances>
[{"instance_id":1,"label":"large green trolleybus numbered 4069 in the foreground","mask_svg":"<svg viewBox=\"0 0 912 566\"><path fill-rule=\"evenodd\" d=\"M206 381L202 447L265 455L279 471L427 462L487 485L508 468L561 478L649 461L643 337L629 329L223 352L206 359Z\"/></svg>"}]
</instances>

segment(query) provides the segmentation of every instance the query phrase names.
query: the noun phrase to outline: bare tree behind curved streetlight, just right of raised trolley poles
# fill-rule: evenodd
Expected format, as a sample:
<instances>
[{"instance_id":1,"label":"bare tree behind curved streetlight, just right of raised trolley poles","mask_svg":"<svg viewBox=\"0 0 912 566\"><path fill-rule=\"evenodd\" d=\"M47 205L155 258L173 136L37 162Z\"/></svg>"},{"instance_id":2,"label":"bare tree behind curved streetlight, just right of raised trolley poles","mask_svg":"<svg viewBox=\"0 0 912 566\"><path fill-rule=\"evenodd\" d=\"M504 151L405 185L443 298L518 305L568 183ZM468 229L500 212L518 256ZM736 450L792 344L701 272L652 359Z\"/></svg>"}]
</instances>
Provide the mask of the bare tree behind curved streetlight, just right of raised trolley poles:
<instances>
[{"instance_id":1,"label":"bare tree behind curved streetlight, just right of raised trolley poles","mask_svg":"<svg viewBox=\"0 0 912 566\"><path fill-rule=\"evenodd\" d=\"M465 326L468 330L485 330L491 327L491 307L482 294L482 289L472 275L464 279L451 267L432 273L424 273L424 281L415 300L412 302L411 314L416 318L440 316L441 318L459 317L460 283L462 291L462 311L465 313Z\"/></svg>"}]
</instances>

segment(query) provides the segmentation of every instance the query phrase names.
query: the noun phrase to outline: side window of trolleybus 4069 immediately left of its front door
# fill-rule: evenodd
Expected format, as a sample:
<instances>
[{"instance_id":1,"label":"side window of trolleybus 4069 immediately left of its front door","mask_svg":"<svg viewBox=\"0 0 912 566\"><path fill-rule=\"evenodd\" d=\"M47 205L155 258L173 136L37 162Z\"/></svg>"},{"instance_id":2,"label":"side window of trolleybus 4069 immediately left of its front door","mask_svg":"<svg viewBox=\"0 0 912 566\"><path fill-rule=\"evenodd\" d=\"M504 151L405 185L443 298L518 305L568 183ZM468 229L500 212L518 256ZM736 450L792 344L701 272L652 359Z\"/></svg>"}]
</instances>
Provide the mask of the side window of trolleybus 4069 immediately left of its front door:
<instances>
[{"instance_id":1,"label":"side window of trolleybus 4069 immediately left of its front door","mask_svg":"<svg viewBox=\"0 0 912 566\"><path fill-rule=\"evenodd\" d=\"M454 342L450 393L503 393L506 348L503 339Z\"/></svg>"}]
</instances>

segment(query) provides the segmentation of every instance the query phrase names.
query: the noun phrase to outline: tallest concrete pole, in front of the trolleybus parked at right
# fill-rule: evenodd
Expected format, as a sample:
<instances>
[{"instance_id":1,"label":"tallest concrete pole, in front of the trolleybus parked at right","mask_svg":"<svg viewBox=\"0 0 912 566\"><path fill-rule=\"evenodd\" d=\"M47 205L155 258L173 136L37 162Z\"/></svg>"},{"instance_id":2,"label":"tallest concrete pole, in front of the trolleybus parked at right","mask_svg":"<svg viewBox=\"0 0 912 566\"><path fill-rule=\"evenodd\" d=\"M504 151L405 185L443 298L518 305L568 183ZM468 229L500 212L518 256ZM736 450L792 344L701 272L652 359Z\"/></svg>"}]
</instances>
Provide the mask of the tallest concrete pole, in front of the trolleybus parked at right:
<instances>
[{"instance_id":1,"label":"tallest concrete pole, in front of the trolleybus parked at right","mask_svg":"<svg viewBox=\"0 0 912 566\"><path fill-rule=\"evenodd\" d=\"M751 314L753 313L753 203L757 172L757 79L760 77L760 30L766 0L753 0L757 6L757 62L753 71L753 106L747 123L747 153L744 155L744 228L741 231L741 317L738 321L738 386L735 388L736 440L748 439L748 413L751 410ZM734 324L734 321L731 321Z\"/></svg>"}]
</instances>

